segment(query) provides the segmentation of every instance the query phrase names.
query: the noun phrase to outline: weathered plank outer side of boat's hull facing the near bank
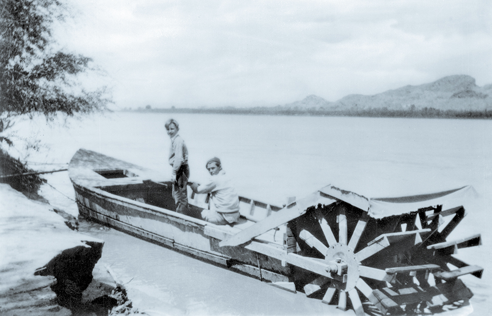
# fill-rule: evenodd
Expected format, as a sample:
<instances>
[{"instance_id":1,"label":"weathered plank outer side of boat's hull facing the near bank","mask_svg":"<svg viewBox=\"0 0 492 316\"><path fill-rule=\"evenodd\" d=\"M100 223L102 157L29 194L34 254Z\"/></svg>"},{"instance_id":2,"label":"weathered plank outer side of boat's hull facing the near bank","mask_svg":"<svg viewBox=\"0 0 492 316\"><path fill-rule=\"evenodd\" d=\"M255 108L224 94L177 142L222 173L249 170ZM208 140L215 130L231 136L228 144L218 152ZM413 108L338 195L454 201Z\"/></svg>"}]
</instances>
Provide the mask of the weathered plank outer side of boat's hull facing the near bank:
<instances>
[{"instance_id":1,"label":"weathered plank outer side of boat's hull facing the near bank","mask_svg":"<svg viewBox=\"0 0 492 316\"><path fill-rule=\"evenodd\" d=\"M173 211L158 210L97 188L74 183L74 189L79 213L86 218L257 279L268 282L289 280L291 270L282 266L280 260L244 247L220 248L220 240L209 235L211 230L214 234L220 233L220 229L208 227L209 233L205 232L207 226L215 225L187 220Z\"/></svg>"}]
</instances>

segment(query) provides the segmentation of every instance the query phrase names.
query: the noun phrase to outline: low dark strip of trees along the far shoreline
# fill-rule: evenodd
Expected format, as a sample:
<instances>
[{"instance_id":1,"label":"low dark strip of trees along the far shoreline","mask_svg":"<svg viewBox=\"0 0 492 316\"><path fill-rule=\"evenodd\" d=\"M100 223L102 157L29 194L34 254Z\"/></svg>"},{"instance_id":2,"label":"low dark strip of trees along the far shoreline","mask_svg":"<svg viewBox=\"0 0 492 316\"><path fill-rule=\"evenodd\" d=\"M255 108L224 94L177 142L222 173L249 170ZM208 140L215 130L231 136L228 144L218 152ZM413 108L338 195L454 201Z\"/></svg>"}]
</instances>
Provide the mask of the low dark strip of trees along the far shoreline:
<instances>
[{"instance_id":1,"label":"low dark strip of trees along the far shoreline","mask_svg":"<svg viewBox=\"0 0 492 316\"><path fill-rule=\"evenodd\" d=\"M299 115L299 116L363 116L363 117L429 117L429 118L492 118L492 111L471 111L471 110L440 110L432 107L416 109L411 107L408 110L391 110L388 108L374 109L350 109L350 110L329 110L323 108L309 109L285 109L277 107L253 107L253 108L168 108L152 109L150 106L138 108L136 112L161 112L161 113L200 113L200 114L245 114L245 115Z\"/></svg>"}]
</instances>

